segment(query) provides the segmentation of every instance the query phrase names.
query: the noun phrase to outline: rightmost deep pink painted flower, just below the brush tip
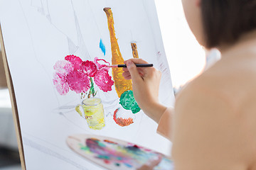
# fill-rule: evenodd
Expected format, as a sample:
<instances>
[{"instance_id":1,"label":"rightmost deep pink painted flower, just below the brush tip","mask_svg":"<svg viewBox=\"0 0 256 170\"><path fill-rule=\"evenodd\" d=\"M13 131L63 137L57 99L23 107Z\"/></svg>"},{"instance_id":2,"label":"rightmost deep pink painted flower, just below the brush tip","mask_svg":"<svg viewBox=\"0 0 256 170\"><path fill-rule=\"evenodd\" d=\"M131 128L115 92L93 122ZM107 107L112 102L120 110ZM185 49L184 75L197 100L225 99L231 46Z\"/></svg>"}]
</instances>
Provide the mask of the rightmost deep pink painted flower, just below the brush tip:
<instances>
[{"instance_id":1,"label":"rightmost deep pink painted flower, just below the brush tip","mask_svg":"<svg viewBox=\"0 0 256 170\"><path fill-rule=\"evenodd\" d=\"M95 84L104 92L111 91L112 85L114 84L108 70L107 68L99 69L94 77Z\"/></svg>"}]
</instances>

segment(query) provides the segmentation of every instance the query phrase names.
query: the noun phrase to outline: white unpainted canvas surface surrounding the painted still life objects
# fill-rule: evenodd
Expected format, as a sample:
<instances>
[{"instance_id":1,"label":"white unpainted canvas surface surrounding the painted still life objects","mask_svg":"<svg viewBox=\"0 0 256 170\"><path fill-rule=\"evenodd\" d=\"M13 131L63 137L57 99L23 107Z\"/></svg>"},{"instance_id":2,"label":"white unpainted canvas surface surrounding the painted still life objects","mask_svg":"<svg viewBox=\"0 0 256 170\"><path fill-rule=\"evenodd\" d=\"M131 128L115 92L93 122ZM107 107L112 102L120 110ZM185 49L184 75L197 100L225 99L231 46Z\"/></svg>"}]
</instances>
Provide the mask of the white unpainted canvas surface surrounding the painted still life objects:
<instances>
[{"instance_id":1,"label":"white unpainted canvas surface surrounding the painted still life objects","mask_svg":"<svg viewBox=\"0 0 256 170\"><path fill-rule=\"evenodd\" d=\"M142 111L134 115L132 125L114 123L118 105L114 86L110 92L97 94L104 106L106 127L91 130L72 108L80 103L80 95L70 91L60 96L53 85L53 66L66 55L111 62L105 7L112 8L124 60L132 58L130 42L136 41L139 57L163 72L159 101L174 104L154 0L0 0L0 22L28 170L101 169L66 145L69 135L82 133L114 137L169 154L170 142L156 133L157 124ZM100 39L106 55L100 50Z\"/></svg>"}]
</instances>

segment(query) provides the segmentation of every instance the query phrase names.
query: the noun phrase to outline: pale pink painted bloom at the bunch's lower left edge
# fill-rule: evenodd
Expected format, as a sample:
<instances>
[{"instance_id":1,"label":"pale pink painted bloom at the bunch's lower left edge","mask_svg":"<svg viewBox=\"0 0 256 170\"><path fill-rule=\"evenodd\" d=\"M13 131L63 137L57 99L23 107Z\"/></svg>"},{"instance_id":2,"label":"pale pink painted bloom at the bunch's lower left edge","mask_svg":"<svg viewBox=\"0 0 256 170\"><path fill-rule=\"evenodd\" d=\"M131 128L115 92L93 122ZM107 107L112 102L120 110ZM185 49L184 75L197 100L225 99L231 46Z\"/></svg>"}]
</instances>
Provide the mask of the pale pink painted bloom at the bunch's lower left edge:
<instances>
[{"instance_id":1,"label":"pale pink painted bloom at the bunch's lower left edge","mask_svg":"<svg viewBox=\"0 0 256 170\"><path fill-rule=\"evenodd\" d=\"M65 79L65 74L55 72L55 74L53 74L53 85L55 85L60 95L68 94L69 86L67 80Z\"/></svg>"}]
</instances>

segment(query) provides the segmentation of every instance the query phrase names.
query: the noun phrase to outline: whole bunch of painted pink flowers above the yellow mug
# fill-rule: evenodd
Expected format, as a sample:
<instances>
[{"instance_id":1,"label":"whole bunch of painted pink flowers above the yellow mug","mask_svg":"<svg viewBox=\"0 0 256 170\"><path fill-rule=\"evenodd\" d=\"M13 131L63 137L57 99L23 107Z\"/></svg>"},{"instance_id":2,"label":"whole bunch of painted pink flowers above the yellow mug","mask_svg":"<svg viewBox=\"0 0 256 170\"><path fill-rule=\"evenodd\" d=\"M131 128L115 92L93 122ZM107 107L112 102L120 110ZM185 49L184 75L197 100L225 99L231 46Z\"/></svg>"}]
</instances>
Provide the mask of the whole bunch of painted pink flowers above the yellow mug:
<instances>
[{"instance_id":1,"label":"whole bunch of painted pink flowers above the yellow mug","mask_svg":"<svg viewBox=\"0 0 256 170\"><path fill-rule=\"evenodd\" d=\"M99 61L103 61L105 64L100 64ZM80 57L68 55L65 57L65 61L58 61L54 65L53 84L60 95L67 94L69 90L80 94L90 89L92 86L90 77L94 77L95 84L102 91L111 91L114 81L108 73L107 64L110 65L109 62L97 57L94 62L88 60L83 62Z\"/></svg>"}]
</instances>

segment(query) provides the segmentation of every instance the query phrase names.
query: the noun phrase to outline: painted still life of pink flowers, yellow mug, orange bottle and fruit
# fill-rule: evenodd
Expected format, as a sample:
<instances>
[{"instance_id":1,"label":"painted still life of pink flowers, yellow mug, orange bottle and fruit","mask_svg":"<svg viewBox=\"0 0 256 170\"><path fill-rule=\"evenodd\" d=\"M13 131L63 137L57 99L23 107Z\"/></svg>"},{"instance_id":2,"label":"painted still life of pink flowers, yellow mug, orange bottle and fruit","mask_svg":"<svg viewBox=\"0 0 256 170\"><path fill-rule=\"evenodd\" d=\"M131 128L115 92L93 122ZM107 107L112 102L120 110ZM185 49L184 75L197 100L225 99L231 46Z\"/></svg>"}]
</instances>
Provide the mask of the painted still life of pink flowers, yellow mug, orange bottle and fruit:
<instances>
[{"instance_id":1,"label":"painted still life of pink flowers, yellow mug, orange bottle and fruit","mask_svg":"<svg viewBox=\"0 0 256 170\"><path fill-rule=\"evenodd\" d=\"M107 15L108 28L110 30L110 42L112 52L112 64L124 63L124 59L119 50L119 45L114 31L114 17L111 8L104 8ZM131 42L132 55L134 58L139 58L136 42ZM100 39L100 49L105 55L105 45ZM102 61L104 64L100 64ZM107 65L106 65L107 64ZM68 91L75 91L80 94L82 105L76 106L75 110L82 116L85 114L88 126L94 130L101 130L105 127L104 109L100 98L96 98L97 91L104 92L112 91L114 84L119 104L126 110L131 110L132 113L138 113L141 109L134 99L132 92L132 80L126 80L122 77L122 69L112 68L112 76L109 74L110 62L104 59L95 57L94 61L82 61L80 57L75 55L67 55L65 60L58 61L54 65L55 73L53 75L53 84L60 95L65 95ZM113 78L112 78L113 77ZM94 85L95 84L95 85ZM84 99L84 100L83 100ZM80 111L80 106L84 113ZM133 118L117 118L116 108L113 115L113 120L117 125L128 126L134 123Z\"/></svg>"}]
</instances>

